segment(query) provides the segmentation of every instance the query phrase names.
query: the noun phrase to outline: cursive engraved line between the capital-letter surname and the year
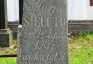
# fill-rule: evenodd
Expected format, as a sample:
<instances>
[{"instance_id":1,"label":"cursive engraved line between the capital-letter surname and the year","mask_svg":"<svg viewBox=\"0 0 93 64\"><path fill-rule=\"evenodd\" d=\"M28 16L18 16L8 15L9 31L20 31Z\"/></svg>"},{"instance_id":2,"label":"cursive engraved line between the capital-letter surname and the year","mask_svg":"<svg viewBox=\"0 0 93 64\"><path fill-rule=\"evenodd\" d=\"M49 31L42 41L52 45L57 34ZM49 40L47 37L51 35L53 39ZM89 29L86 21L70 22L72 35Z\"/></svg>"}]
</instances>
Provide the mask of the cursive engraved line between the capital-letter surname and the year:
<instances>
[{"instance_id":1,"label":"cursive engraved line between the capital-letter surname and the year","mask_svg":"<svg viewBox=\"0 0 93 64\"><path fill-rule=\"evenodd\" d=\"M23 36L24 38L40 38L40 36L44 36L45 38L51 38L51 39L54 39L54 38L63 38L65 36L65 34L62 34L62 33L54 33L54 34L51 34L51 33L48 33L46 35L46 33L44 32L38 32L38 33L24 33L25 36Z\"/></svg>"}]
</instances>

